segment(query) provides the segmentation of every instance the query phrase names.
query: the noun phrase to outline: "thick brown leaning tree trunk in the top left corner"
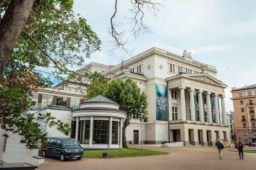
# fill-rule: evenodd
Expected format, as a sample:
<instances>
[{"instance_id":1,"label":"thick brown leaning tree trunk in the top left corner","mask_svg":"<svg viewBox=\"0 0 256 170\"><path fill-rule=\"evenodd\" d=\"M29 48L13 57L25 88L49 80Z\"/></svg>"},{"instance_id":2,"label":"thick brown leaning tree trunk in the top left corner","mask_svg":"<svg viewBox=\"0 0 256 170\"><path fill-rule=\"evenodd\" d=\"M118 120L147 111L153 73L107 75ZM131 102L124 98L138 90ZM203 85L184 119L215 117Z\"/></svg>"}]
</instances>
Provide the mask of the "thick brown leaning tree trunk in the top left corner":
<instances>
[{"instance_id":1,"label":"thick brown leaning tree trunk in the top left corner","mask_svg":"<svg viewBox=\"0 0 256 170\"><path fill-rule=\"evenodd\" d=\"M35 0L11 0L0 22L0 79Z\"/></svg>"}]
</instances>

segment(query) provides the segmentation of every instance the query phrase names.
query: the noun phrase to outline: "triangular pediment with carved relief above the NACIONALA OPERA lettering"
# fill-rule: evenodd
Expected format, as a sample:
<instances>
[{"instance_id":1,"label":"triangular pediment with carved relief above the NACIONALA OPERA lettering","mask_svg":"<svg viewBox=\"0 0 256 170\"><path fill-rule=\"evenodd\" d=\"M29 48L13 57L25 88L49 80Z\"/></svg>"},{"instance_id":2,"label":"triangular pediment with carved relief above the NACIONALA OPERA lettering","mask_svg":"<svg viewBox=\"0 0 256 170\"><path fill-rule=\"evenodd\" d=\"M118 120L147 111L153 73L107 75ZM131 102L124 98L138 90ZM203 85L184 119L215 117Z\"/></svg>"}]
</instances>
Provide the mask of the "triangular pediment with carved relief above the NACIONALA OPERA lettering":
<instances>
[{"instance_id":1,"label":"triangular pediment with carved relief above the NACIONALA OPERA lettering","mask_svg":"<svg viewBox=\"0 0 256 170\"><path fill-rule=\"evenodd\" d=\"M207 73L200 73L200 74L185 74L185 77L189 77L195 80L203 81L205 83L210 83L212 85L219 85L227 87L223 82L214 78L213 76L208 75Z\"/></svg>"}]
</instances>

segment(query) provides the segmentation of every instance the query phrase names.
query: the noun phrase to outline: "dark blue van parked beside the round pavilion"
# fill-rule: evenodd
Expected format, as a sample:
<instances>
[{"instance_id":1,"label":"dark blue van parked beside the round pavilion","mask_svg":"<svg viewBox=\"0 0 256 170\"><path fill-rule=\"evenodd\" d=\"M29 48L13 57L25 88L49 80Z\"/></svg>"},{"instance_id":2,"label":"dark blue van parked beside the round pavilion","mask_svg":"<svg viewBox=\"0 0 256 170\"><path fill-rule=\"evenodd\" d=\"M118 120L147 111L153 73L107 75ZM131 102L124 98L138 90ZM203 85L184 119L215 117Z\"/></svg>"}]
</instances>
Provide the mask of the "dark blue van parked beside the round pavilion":
<instances>
[{"instance_id":1,"label":"dark blue van parked beside the round pavilion","mask_svg":"<svg viewBox=\"0 0 256 170\"><path fill-rule=\"evenodd\" d=\"M42 151L45 158L53 156L65 161L71 158L80 160L83 157L83 148L74 138L48 137L45 145L48 146L48 149Z\"/></svg>"}]
</instances>

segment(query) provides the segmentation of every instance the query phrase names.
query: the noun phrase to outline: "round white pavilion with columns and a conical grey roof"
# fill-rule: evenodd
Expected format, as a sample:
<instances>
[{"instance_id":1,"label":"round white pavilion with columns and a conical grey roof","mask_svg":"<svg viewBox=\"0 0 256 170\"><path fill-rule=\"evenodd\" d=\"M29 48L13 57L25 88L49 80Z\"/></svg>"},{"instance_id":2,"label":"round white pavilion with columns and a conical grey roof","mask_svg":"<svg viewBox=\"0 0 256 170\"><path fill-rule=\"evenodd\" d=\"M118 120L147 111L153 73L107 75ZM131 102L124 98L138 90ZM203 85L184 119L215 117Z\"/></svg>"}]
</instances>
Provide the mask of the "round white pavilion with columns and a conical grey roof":
<instances>
[{"instance_id":1,"label":"round white pavilion with columns and a conical grey roof","mask_svg":"<svg viewBox=\"0 0 256 170\"><path fill-rule=\"evenodd\" d=\"M80 103L72 110L76 119L72 134L83 148L122 148L122 125L126 112L119 105L99 95Z\"/></svg>"}]
</instances>

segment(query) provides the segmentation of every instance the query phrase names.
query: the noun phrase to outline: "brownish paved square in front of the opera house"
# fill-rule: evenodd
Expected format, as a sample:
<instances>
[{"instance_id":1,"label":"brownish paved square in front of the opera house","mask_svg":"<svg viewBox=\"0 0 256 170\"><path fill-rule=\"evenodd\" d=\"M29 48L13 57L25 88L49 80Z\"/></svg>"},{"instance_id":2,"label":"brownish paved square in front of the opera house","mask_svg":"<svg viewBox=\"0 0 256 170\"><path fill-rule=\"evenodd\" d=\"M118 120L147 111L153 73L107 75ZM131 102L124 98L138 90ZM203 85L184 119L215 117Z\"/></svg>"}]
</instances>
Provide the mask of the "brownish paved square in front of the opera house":
<instances>
[{"instance_id":1,"label":"brownish paved square in front of the opera house","mask_svg":"<svg viewBox=\"0 0 256 170\"><path fill-rule=\"evenodd\" d=\"M140 145L129 145L141 148ZM213 148L167 148L144 146L144 149L169 152L169 155L137 157L82 159L61 162L59 159L47 158L48 163L38 166L37 170L252 170L255 169L256 153L244 153L245 160L239 160L238 152L223 151L223 160L219 159L216 147Z\"/></svg>"}]
</instances>

